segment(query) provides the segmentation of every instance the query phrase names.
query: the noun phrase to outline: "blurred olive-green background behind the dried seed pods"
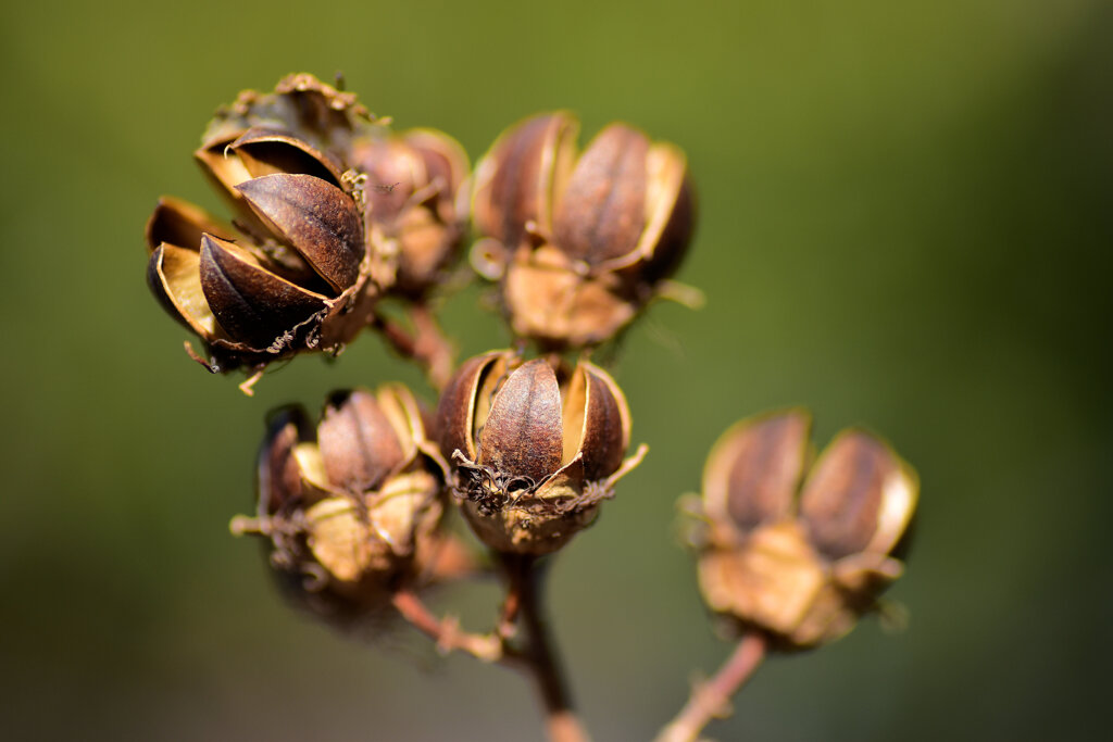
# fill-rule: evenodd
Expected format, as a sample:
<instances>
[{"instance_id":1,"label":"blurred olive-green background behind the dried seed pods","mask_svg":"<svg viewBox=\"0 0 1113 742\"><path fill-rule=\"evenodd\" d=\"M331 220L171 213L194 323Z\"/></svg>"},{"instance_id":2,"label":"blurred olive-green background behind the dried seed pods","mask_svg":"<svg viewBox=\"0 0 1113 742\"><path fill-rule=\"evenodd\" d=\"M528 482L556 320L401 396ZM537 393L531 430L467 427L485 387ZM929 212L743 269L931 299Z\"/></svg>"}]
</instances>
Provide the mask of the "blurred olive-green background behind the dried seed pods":
<instances>
[{"instance_id":1,"label":"blurred olive-green background behind the dried seed pods","mask_svg":"<svg viewBox=\"0 0 1113 742\"><path fill-rule=\"evenodd\" d=\"M219 209L190 152L217 105L290 71L477 157L556 107L683 147L701 196L680 278L615 375L652 447L553 566L598 740L646 740L712 633L674 501L736 418L809 405L919 471L922 521L866 621L769 662L733 740L1104 739L1113 682L1113 3L760 0L8 3L0 11L0 720L20 740L529 740L516 676L288 611L254 543L266 409L415 374L373 337L256 398L181 352L144 283L161 194ZM505 343L445 318L473 354ZM476 627L490 585L450 592Z\"/></svg>"}]
</instances>

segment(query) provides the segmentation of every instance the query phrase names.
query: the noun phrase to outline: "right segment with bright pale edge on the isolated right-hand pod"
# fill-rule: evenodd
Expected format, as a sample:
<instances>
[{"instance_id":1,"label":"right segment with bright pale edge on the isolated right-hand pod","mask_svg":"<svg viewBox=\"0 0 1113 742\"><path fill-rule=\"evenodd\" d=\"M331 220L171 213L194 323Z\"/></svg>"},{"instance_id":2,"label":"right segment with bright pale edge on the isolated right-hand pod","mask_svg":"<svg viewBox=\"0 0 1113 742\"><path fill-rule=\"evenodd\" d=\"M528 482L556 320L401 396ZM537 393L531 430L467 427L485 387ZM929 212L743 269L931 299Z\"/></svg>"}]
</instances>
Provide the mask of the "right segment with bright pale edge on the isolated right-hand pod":
<instances>
[{"instance_id":1,"label":"right segment with bright pale edge on the isolated right-hand pod","mask_svg":"<svg viewBox=\"0 0 1113 742\"><path fill-rule=\"evenodd\" d=\"M816 462L800 495L800 517L811 543L837 560L887 554L916 507L912 469L864 431L838 435Z\"/></svg>"}]
</instances>

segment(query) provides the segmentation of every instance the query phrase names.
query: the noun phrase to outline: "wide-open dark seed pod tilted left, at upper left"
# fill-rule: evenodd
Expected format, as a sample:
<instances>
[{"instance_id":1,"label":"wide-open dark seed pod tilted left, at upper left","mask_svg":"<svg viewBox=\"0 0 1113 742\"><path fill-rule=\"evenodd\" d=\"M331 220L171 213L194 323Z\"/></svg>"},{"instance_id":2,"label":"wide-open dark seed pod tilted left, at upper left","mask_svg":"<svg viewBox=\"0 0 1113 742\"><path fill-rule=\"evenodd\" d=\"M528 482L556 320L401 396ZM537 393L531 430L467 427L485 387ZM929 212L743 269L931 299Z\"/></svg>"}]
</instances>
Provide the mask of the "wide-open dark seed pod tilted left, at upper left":
<instances>
[{"instance_id":1,"label":"wide-open dark seed pod tilted left, at upper left","mask_svg":"<svg viewBox=\"0 0 1113 742\"><path fill-rule=\"evenodd\" d=\"M377 128L311 76L218 112L196 158L232 222L164 197L146 230L151 291L200 338L208 358L190 355L209 370L337 353L367 323L382 287L345 148Z\"/></svg>"}]
</instances>

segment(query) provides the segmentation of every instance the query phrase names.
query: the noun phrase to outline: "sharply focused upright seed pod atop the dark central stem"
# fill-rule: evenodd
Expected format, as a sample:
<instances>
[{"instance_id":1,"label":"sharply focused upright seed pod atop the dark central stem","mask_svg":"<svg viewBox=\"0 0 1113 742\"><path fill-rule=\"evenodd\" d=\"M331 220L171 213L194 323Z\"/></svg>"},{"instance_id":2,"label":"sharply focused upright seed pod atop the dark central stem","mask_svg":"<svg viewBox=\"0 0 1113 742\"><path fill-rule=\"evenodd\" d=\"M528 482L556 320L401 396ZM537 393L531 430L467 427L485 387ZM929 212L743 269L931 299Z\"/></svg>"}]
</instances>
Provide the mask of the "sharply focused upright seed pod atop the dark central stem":
<instances>
[{"instance_id":1,"label":"sharply focused upright seed pod atop the dark central stem","mask_svg":"<svg viewBox=\"0 0 1113 742\"><path fill-rule=\"evenodd\" d=\"M630 410L604 370L522 363L511 350L465 362L441 397L437 423L464 516L500 552L563 546L647 452L642 445L623 458Z\"/></svg>"}]
</instances>

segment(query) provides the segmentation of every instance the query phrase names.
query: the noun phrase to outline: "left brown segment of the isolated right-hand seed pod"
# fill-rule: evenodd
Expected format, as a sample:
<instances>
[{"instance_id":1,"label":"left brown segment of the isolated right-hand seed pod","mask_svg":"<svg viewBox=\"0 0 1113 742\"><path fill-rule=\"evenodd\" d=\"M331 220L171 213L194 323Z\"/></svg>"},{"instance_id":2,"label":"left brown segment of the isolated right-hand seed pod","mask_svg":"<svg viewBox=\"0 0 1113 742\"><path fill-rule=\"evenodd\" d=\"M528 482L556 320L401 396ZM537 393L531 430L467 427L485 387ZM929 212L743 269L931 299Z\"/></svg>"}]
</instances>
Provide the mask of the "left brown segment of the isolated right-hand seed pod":
<instances>
[{"instance_id":1,"label":"left brown segment of the isolated right-hand seed pod","mask_svg":"<svg viewBox=\"0 0 1113 742\"><path fill-rule=\"evenodd\" d=\"M716 444L703 477L710 511L742 533L792 512L808 452L810 418L794 409L745 421Z\"/></svg>"}]
</instances>

